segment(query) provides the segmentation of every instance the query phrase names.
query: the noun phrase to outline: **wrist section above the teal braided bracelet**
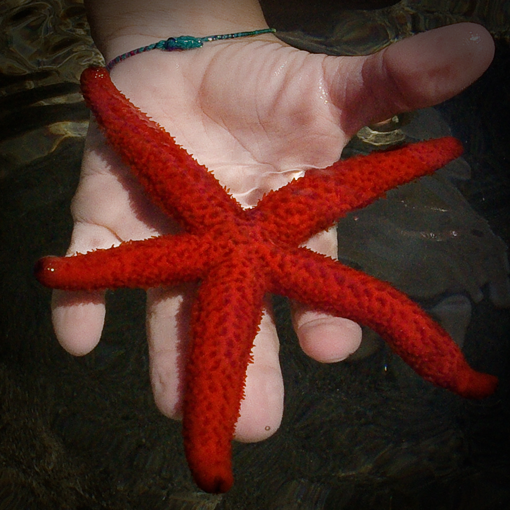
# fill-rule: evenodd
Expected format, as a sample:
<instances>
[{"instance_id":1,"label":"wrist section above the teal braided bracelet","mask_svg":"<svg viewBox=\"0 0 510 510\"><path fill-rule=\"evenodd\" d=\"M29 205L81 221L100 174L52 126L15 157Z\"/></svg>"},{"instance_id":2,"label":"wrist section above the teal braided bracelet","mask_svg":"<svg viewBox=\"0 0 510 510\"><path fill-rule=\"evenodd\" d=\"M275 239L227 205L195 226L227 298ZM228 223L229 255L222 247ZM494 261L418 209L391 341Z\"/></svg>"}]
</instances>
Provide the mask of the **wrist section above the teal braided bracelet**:
<instances>
[{"instance_id":1,"label":"wrist section above the teal braided bracelet","mask_svg":"<svg viewBox=\"0 0 510 510\"><path fill-rule=\"evenodd\" d=\"M85 7L107 62L168 37L267 28L258 0L85 0Z\"/></svg>"}]
</instances>

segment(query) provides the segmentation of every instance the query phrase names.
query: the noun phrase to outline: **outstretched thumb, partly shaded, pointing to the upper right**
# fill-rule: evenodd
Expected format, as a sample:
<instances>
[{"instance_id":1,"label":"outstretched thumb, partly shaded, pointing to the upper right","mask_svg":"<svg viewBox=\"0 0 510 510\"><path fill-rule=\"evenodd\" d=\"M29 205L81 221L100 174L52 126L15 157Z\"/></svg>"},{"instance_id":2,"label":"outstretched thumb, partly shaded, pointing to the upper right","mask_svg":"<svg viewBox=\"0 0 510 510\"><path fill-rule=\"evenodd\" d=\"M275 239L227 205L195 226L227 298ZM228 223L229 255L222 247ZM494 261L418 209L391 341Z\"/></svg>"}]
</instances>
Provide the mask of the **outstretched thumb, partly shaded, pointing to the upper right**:
<instances>
[{"instance_id":1,"label":"outstretched thumb, partly shaded, pointing to the upper right","mask_svg":"<svg viewBox=\"0 0 510 510\"><path fill-rule=\"evenodd\" d=\"M326 62L334 101L355 105L344 118L353 133L363 123L433 106L473 83L488 68L494 41L481 25L457 23L404 39L369 57ZM342 65L342 68L339 66ZM335 69L336 67L336 69Z\"/></svg>"}]
</instances>

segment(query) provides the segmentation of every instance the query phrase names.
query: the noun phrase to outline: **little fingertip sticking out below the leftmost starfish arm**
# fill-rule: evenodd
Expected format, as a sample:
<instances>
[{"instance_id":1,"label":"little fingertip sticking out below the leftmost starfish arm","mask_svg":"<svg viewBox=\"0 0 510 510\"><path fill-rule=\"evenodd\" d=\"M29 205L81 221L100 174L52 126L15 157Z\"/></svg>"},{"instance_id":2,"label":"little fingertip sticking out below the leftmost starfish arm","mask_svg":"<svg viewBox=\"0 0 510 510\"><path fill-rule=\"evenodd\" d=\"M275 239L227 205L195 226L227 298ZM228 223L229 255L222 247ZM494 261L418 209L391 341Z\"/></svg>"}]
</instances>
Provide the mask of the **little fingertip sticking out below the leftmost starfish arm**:
<instances>
[{"instance_id":1,"label":"little fingertip sticking out below the leftmost starfish arm","mask_svg":"<svg viewBox=\"0 0 510 510\"><path fill-rule=\"evenodd\" d=\"M52 320L62 347L75 356L90 352L99 342L105 322L105 293L53 291Z\"/></svg>"}]
</instances>

